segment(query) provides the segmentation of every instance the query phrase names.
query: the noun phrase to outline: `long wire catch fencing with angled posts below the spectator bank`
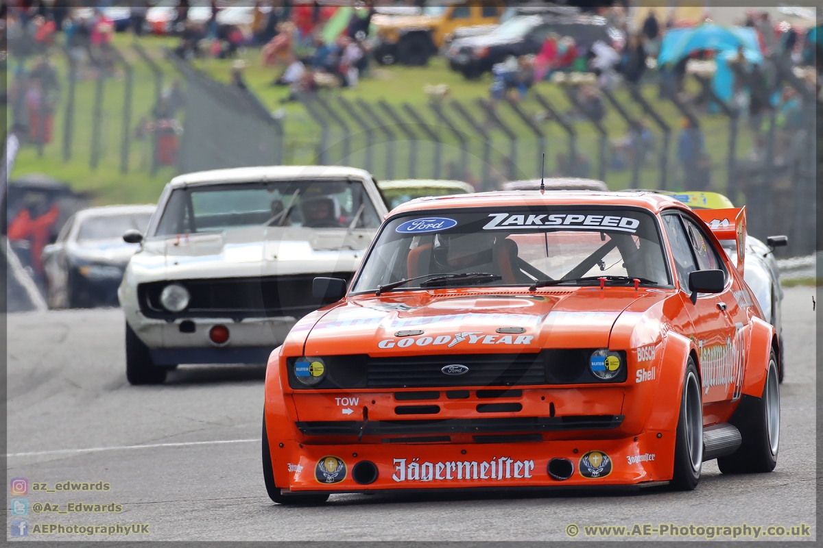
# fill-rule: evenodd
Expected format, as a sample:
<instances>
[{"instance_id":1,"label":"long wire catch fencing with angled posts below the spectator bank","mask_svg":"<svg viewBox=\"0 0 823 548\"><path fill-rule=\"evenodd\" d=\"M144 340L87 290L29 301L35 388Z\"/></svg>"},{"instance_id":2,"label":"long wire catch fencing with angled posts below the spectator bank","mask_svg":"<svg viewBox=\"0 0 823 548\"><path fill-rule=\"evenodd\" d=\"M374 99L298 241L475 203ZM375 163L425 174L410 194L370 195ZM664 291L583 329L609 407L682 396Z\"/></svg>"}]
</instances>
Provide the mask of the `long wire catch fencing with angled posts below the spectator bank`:
<instances>
[{"instance_id":1,"label":"long wire catch fencing with angled posts below the spectator bank","mask_svg":"<svg viewBox=\"0 0 823 548\"><path fill-rule=\"evenodd\" d=\"M803 108L801 125L791 131L780 126L774 109L763 123L746 118L696 74L690 85L707 104L658 94L653 81L623 82L609 90L587 88L571 75L536 86L519 100L454 98L434 89L427 90L427 102L410 104L323 90L298 94L297 108L280 108L275 115L252 91L215 81L173 54L150 55L139 43L128 51L89 48L85 69L77 52L64 49L63 55L61 97L53 108L61 142L32 143L39 154L60 146L63 162L87 160L91 168L116 162L121 173L155 173L158 164L170 162L179 173L344 164L365 168L381 180L448 178L493 190L506 181L539 177L545 153L547 177L597 178L612 190L720 191L746 204L752 235L789 236L780 256L815 249L815 92L779 60L772 60L778 69L775 88L792 87ZM88 67L97 69L91 79ZM175 130L170 160L159 142L164 131L159 120L147 135L139 135L135 126L152 126L144 121L146 113L160 116L164 88L169 88L165 83L181 77L182 132ZM151 93L135 94L136 81L151 81ZM592 101L597 108L591 108ZM700 181L692 177L698 173L694 167L679 159L681 118L704 140ZM77 150L78 143L88 146Z\"/></svg>"}]
</instances>

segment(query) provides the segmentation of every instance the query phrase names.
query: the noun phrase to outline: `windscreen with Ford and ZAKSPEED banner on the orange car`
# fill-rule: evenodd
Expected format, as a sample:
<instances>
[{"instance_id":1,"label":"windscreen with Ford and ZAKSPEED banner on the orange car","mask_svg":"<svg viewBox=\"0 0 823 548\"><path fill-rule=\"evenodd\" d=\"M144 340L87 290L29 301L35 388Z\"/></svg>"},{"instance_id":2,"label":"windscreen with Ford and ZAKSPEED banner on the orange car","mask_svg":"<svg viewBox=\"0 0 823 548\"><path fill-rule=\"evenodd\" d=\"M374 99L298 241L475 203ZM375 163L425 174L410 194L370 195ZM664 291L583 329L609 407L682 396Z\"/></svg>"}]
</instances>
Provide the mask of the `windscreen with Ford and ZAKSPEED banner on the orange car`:
<instances>
[{"instance_id":1,"label":"windscreen with Ford and ZAKSPEED banner on the orange car","mask_svg":"<svg viewBox=\"0 0 823 548\"><path fill-rule=\"evenodd\" d=\"M436 286L437 276L449 274L481 274L466 284L485 287L546 280L585 285L589 282L579 279L599 276L671 287L663 257L658 224L642 210L433 211L390 220L352 292L412 278L419 279L402 288L428 288Z\"/></svg>"}]
</instances>

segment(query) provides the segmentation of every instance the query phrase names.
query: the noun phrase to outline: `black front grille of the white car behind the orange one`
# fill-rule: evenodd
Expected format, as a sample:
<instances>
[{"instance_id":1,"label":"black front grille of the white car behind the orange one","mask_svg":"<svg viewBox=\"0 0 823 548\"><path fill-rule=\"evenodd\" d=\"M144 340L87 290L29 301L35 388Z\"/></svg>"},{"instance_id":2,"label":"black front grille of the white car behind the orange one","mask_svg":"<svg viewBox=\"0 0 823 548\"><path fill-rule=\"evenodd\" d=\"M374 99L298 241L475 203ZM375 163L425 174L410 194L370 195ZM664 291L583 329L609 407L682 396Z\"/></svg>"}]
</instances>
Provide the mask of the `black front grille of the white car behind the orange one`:
<instances>
[{"instance_id":1,"label":"black front grille of the white car behind the orange one","mask_svg":"<svg viewBox=\"0 0 823 548\"><path fill-rule=\"evenodd\" d=\"M321 303L312 295L314 278L351 279L351 272L295 274L253 278L180 279L141 283L137 286L140 310L150 318L230 317L261 318L294 316L301 318L317 310ZM166 311L160 292L170 283L180 283L191 295L184 311Z\"/></svg>"}]
</instances>

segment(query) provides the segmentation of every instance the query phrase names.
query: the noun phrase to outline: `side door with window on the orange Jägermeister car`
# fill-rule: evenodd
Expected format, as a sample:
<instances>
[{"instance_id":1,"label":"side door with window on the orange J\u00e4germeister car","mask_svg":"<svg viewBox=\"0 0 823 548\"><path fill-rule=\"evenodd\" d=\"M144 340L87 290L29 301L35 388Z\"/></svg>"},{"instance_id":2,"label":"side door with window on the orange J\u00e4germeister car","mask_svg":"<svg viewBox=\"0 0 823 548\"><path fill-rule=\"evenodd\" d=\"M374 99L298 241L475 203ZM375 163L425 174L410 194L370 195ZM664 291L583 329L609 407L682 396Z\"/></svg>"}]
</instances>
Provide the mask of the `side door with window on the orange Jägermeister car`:
<instances>
[{"instance_id":1,"label":"side door with window on the orange J\u00e4germeister car","mask_svg":"<svg viewBox=\"0 0 823 548\"><path fill-rule=\"evenodd\" d=\"M713 403L739 397L737 388L737 357L741 355L735 325L736 302L732 296L728 269L720 260L704 230L692 219L681 214L663 215L669 245L677 267L681 295L689 299L689 273L694 270L722 269L726 273L726 288L721 293L699 293L694 305L686 303L698 348L703 403ZM739 328L739 329L738 329ZM706 417L708 418L708 417Z\"/></svg>"}]
</instances>

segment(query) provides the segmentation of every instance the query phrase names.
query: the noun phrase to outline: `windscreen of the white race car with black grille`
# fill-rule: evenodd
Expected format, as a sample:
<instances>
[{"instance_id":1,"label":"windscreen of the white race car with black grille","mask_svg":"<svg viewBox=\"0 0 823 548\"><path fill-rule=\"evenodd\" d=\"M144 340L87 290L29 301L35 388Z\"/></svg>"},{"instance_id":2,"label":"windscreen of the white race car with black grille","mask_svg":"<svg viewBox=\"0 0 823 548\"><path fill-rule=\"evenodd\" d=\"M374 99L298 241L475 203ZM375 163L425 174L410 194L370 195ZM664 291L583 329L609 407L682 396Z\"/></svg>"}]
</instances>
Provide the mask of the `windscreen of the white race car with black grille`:
<instances>
[{"instance_id":1,"label":"windscreen of the white race car with black grille","mask_svg":"<svg viewBox=\"0 0 823 548\"><path fill-rule=\"evenodd\" d=\"M174 189L154 235L250 226L378 228L380 219L360 181L223 183Z\"/></svg>"}]
</instances>

